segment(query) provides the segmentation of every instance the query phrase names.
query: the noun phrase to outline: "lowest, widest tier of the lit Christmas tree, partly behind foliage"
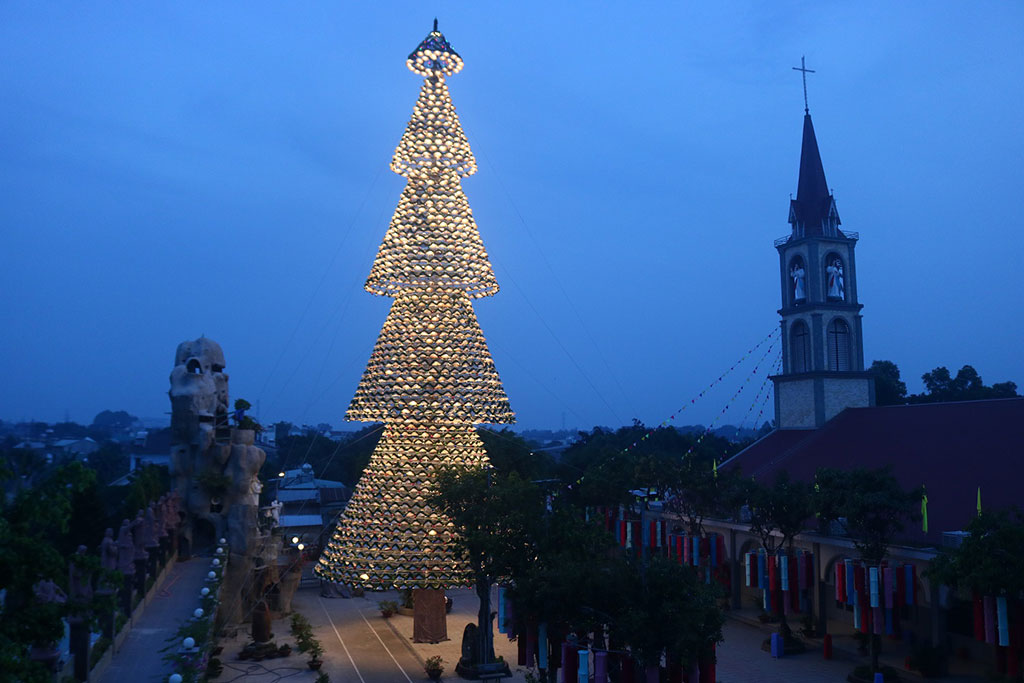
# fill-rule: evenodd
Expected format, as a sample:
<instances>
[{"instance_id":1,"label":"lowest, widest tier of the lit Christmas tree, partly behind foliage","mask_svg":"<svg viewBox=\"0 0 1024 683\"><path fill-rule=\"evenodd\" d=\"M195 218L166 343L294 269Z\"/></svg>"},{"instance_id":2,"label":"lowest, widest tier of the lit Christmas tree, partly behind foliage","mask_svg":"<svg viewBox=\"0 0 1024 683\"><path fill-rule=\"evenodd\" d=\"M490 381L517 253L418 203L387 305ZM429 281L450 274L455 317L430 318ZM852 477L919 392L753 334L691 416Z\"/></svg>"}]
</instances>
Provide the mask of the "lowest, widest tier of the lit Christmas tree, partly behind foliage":
<instances>
[{"instance_id":1,"label":"lowest, widest tier of the lit Christmas tree, partly behind foliage","mask_svg":"<svg viewBox=\"0 0 1024 683\"><path fill-rule=\"evenodd\" d=\"M426 500L439 468L486 464L483 443L469 425L389 424L316 575L372 590L469 585L452 522Z\"/></svg>"}]
</instances>

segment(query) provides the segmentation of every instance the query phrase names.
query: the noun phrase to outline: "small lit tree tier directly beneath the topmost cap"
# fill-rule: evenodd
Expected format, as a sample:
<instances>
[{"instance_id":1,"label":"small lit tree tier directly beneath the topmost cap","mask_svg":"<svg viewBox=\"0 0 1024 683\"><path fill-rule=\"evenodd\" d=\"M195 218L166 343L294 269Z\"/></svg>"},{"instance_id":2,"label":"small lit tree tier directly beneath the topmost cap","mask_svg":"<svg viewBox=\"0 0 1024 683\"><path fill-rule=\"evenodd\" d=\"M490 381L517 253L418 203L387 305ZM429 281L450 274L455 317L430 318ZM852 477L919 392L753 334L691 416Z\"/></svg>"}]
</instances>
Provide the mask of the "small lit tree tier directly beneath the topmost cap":
<instances>
[{"instance_id":1,"label":"small lit tree tier directly beneath the topmost cap","mask_svg":"<svg viewBox=\"0 0 1024 683\"><path fill-rule=\"evenodd\" d=\"M476 160L462 131L447 84L441 76L424 79L413 117L391 158L391 170L410 176L452 169L462 177L476 173Z\"/></svg>"}]
</instances>

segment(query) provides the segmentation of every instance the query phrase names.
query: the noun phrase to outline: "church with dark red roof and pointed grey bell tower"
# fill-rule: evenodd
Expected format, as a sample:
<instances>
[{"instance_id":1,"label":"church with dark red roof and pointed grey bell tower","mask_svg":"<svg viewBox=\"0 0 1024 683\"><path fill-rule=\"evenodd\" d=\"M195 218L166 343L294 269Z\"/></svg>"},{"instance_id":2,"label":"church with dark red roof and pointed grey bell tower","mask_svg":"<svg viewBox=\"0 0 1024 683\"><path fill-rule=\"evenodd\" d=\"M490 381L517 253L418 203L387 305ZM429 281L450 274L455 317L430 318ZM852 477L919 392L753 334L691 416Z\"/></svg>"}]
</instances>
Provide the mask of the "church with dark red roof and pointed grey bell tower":
<instances>
[{"instance_id":1,"label":"church with dark red roof and pointed grey bell tower","mask_svg":"<svg viewBox=\"0 0 1024 683\"><path fill-rule=\"evenodd\" d=\"M908 523L898 545L889 549L891 562L919 569L920 601L901 616L902 628L935 643L951 636L955 645L984 656L983 645L971 638L970 624L950 616L962 613L964 605L931 585L924 570L939 548L959 543L978 514L979 500L993 509L1019 503L1024 398L876 405L857 295L860 236L841 227L806 109L788 222L790 233L774 243L782 341L781 372L772 377L776 428L719 468L771 483L783 472L810 482L821 467L888 467L905 489L925 486L930 523ZM760 592L743 587L742 558L757 550L760 540L738 520L712 520L706 528L725 537L733 607L748 605ZM796 546L814 558L812 610L819 632L846 632L850 606L835 599L835 577L837 564L857 556L852 541L808 530L797 537Z\"/></svg>"}]
</instances>

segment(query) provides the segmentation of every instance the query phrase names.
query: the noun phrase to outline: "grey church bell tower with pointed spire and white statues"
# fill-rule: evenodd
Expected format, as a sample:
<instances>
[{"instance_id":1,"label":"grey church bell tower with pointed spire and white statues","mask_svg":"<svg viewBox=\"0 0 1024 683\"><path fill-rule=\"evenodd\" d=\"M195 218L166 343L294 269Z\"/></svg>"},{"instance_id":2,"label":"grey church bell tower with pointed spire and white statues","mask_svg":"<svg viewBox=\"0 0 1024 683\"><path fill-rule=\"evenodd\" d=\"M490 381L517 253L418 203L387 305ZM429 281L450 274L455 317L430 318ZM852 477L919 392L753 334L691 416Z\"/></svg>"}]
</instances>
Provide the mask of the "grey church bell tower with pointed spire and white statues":
<instances>
[{"instance_id":1,"label":"grey church bell tower with pointed spire and white statues","mask_svg":"<svg viewBox=\"0 0 1024 683\"><path fill-rule=\"evenodd\" d=\"M800 69L798 71L804 71ZM805 71L806 78L806 71ZM859 236L840 229L811 115L804 109L792 232L775 241L782 307L782 372L775 383L778 429L816 429L846 408L874 404L864 371L854 248Z\"/></svg>"}]
</instances>

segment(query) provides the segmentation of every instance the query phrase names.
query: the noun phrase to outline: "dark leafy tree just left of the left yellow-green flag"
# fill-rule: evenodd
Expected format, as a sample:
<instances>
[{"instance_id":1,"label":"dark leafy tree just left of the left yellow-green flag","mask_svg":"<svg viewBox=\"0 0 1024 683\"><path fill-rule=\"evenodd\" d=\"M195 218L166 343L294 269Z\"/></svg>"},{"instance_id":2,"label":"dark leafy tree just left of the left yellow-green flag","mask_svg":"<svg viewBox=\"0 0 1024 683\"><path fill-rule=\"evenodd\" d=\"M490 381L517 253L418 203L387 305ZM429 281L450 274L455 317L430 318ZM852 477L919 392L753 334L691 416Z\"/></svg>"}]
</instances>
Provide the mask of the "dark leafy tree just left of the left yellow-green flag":
<instances>
[{"instance_id":1,"label":"dark leafy tree just left of the left yellow-green flag","mask_svg":"<svg viewBox=\"0 0 1024 683\"><path fill-rule=\"evenodd\" d=\"M904 489L891 468L837 470L815 475L814 503L823 523L842 521L868 566L879 566L906 521L919 519L923 489ZM871 670L879 671L882 637L871 637Z\"/></svg>"}]
</instances>

